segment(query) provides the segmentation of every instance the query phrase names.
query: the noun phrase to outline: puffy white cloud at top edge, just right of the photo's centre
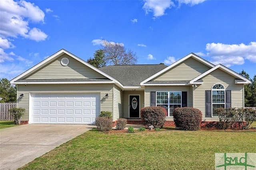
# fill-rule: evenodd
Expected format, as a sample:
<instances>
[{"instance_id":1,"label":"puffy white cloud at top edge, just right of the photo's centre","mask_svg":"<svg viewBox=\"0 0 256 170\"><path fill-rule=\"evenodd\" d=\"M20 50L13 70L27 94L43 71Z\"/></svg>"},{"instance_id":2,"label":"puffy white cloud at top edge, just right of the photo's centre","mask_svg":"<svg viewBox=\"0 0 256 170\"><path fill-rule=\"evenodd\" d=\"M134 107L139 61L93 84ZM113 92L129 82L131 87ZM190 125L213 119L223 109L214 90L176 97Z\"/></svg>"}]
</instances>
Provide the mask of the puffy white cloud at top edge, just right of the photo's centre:
<instances>
[{"instance_id":1,"label":"puffy white cloud at top edge, just right of the photo's centre","mask_svg":"<svg viewBox=\"0 0 256 170\"><path fill-rule=\"evenodd\" d=\"M146 14L153 12L155 17L163 16L167 8L174 6L172 0L144 0L144 2L142 8L145 10Z\"/></svg>"}]
</instances>

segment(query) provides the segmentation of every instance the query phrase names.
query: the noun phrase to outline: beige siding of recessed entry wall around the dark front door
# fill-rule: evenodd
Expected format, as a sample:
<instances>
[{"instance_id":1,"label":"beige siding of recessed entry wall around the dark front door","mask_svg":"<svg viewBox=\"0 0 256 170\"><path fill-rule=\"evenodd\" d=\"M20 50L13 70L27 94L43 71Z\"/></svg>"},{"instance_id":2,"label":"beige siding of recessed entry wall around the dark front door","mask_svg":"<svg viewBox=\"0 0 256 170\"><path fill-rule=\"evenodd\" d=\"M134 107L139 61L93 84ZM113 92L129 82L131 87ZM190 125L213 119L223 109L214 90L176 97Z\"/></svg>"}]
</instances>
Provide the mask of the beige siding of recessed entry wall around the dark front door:
<instances>
[{"instance_id":1,"label":"beige siding of recessed entry wall around the dark front door","mask_svg":"<svg viewBox=\"0 0 256 170\"><path fill-rule=\"evenodd\" d=\"M144 91L124 91L124 118L129 118L129 95L140 95L140 109L144 103Z\"/></svg>"}]
</instances>

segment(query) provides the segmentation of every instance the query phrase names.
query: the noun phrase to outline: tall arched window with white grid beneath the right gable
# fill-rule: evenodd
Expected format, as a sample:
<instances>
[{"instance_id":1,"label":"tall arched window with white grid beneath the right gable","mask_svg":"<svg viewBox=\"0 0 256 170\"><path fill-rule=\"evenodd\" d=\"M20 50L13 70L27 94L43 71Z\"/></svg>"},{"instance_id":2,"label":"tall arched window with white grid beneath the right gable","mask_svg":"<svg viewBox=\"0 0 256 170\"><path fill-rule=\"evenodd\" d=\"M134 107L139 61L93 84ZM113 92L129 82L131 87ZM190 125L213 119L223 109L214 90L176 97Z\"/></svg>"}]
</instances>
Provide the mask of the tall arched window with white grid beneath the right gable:
<instances>
[{"instance_id":1,"label":"tall arched window with white grid beneath the right gable","mask_svg":"<svg viewBox=\"0 0 256 170\"><path fill-rule=\"evenodd\" d=\"M225 108L225 87L222 84L215 84L212 86L212 117L218 117L214 109Z\"/></svg>"}]
</instances>

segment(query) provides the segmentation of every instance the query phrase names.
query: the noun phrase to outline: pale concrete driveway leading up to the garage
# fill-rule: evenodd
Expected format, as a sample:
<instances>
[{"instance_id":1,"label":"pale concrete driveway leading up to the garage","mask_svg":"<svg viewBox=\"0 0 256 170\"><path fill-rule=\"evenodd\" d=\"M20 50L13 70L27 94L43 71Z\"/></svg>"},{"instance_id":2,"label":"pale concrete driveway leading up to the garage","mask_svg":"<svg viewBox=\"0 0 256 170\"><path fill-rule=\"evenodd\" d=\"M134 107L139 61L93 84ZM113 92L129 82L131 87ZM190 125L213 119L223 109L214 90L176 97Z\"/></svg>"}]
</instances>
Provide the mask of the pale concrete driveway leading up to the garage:
<instances>
[{"instance_id":1,"label":"pale concrete driveway leading up to the garage","mask_svg":"<svg viewBox=\"0 0 256 170\"><path fill-rule=\"evenodd\" d=\"M29 124L0 129L0 169L16 170L93 127Z\"/></svg>"}]
</instances>

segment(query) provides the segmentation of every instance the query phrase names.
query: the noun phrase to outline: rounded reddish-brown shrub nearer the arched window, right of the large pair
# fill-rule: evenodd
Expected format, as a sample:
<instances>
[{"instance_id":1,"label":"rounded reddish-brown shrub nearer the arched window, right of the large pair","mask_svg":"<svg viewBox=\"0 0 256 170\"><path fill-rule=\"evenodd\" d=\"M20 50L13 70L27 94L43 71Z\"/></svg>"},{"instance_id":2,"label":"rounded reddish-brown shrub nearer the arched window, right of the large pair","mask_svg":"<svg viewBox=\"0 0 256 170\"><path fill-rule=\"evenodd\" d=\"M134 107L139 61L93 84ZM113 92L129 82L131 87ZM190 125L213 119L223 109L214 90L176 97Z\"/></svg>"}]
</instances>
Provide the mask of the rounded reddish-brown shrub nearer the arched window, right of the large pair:
<instances>
[{"instance_id":1,"label":"rounded reddish-brown shrub nearer the arched window, right of the large pair","mask_svg":"<svg viewBox=\"0 0 256 170\"><path fill-rule=\"evenodd\" d=\"M202 113L192 107L177 107L173 111L175 126L182 130L199 130L202 122Z\"/></svg>"}]
</instances>

